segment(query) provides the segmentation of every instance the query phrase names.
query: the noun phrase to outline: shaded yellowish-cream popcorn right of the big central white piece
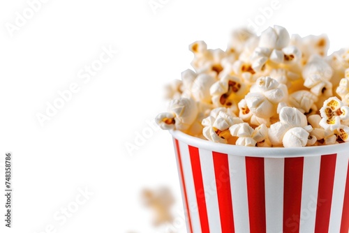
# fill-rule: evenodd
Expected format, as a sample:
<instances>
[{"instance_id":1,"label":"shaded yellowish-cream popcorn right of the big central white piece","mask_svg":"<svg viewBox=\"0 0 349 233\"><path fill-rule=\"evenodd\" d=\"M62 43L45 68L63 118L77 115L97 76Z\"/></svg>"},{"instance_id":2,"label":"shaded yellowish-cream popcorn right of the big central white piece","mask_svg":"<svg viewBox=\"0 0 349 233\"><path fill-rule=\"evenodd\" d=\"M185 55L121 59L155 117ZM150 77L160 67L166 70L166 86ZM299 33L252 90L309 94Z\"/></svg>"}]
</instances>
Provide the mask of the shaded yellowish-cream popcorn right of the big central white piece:
<instances>
[{"instance_id":1,"label":"shaded yellowish-cream popcorn right of the big central white piece","mask_svg":"<svg viewBox=\"0 0 349 233\"><path fill-rule=\"evenodd\" d=\"M316 112L318 107L315 103L318 101L318 97L310 91L296 91L290 94L288 99L291 107L296 107L302 113Z\"/></svg>"}]
</instances>

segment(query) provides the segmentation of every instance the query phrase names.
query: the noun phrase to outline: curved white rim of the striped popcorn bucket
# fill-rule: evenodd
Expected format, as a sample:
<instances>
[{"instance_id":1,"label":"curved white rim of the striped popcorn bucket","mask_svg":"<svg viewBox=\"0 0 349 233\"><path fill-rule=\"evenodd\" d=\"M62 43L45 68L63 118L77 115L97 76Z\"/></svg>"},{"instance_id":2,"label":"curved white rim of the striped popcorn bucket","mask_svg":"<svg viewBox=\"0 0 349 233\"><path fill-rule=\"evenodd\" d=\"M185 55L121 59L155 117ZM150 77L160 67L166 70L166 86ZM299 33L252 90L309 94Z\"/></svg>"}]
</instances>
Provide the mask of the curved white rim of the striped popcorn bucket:
<instances>
[{"instance_id":1,"label":"curved white rim of the striped popcorn bucket","mask_svg":"<svg viewBox=\"0 0 349 233\"><path fill-rule=\"evenodd\" d=\"M333 153L349 152L349 142L341 144L324 145L324 146L305 146L305 147L250 147L237 146L231 144L222 144L210 142L199 137L193 137L181 132L180 130L169 130L172 137L188 145L215 151L234 156L251 156L260 158L295 158L329 155Z\"/></svg>"}]
</instances>

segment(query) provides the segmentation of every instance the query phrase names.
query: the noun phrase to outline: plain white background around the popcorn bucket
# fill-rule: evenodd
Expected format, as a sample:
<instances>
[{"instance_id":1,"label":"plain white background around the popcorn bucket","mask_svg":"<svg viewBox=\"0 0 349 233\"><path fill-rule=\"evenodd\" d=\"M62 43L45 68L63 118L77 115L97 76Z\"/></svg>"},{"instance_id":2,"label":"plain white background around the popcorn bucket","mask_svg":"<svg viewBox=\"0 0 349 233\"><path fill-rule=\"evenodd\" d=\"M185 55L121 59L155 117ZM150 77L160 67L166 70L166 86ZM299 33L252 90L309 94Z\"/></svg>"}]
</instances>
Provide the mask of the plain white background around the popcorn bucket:
<instances>
[{"instance_id":1,"label":"plain white background around the popcorn bucket","mask_svg":"<svg viewBox=\"0 0 349 233\"><path fill-rule=\"evenodd\" d=\"M162 7L154 11L149 0L49 0L12 36L6 25L29 5L1 1L0 165L12 151L14 204L8 230L0 166L0 232L41 233L53 225L56 232L165 233L152 227L140 200L143 188L160 186L172 190L172 211L182 218L171 137L149 131L147 121L165 110L164 84L190 68L190 43L225 50L231 29L261 19L260 8L272 0L155 1ZM327 33L331 52L348 47L348 7L325 2L279 0L258 32L279 24L301 36ZM118 52L84 83L78 73L103 46ZM75 82L80 90L40 126L36 114ZM127 151L144 130L142 145ZM79 188L93 195L61 225L54 214L75 202Z\"/></svg>"}]
</instances>

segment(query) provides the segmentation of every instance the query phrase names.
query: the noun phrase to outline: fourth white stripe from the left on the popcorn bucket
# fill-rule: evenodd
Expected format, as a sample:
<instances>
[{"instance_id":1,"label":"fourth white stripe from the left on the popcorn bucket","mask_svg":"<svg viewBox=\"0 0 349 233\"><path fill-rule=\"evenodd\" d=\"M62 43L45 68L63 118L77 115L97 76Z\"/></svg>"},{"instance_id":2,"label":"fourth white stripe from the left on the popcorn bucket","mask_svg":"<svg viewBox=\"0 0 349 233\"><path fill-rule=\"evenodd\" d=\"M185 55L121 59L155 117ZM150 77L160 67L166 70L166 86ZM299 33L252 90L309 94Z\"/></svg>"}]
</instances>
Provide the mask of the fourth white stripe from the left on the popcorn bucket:
<instances>
[{"instance_id":1,"label":"fourth white stripe from the left on the popcorn bucket","mask_svg":"<svg viewBox=\"0 0 349 233\"><path fill-rule=\"evenodd\" d=\"M265 214L267 233L283 232L284 158L265 158Z\"/></svg>"}]
</instances>

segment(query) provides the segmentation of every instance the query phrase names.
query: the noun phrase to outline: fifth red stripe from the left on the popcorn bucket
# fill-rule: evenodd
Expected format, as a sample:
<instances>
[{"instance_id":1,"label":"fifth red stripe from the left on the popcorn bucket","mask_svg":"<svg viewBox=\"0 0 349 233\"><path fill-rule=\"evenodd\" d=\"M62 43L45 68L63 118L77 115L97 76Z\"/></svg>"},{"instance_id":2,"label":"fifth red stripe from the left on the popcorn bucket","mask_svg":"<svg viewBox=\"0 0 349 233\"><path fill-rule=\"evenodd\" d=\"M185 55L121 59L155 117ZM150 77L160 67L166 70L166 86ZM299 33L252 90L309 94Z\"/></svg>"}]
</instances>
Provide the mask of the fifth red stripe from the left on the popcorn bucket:
<instances>
[{"instance_id":1,"label":"fifth red stripe from the left on the popcorn bucket","mask_svg":"<svg viewBox=\"0 0 349 233\"><path fill-rule=\"evenodd\" d=\"M299 232L304 158L285 158L283 177L283 233Z\"/></svg>"}]
</instances>

